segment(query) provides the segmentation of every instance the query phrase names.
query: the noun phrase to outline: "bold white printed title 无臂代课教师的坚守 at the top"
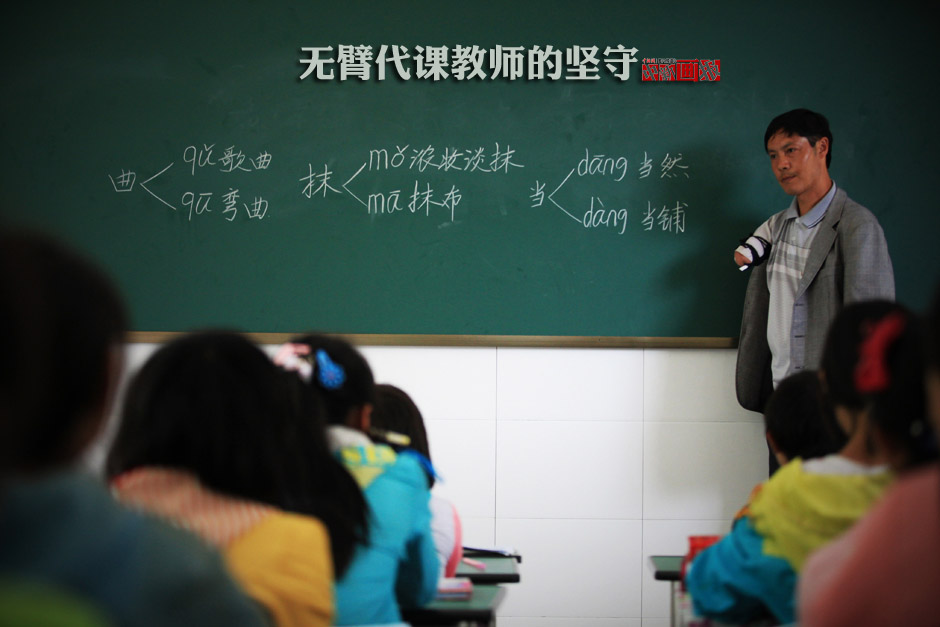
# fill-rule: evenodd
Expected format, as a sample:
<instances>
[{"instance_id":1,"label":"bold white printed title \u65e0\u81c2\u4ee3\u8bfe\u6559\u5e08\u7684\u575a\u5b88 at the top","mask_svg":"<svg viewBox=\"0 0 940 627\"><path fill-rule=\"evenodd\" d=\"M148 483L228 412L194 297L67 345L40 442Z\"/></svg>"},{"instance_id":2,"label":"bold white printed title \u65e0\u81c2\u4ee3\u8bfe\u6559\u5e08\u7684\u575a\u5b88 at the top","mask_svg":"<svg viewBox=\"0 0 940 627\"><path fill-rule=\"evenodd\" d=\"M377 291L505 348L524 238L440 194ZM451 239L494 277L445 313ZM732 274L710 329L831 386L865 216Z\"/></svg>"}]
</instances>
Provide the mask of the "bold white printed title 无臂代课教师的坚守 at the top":
<instances>
[{"instance_id":1,"label":"bold white printed title \u65e0\u81c2\u4ee3\u8bfe\u6559\u5e08\u7684\u575a\u5b88 at the top","mask_svg":"<svg viewBox=\"0 0 940 627\"><path fill-rule=\"evenodd\" d=\"M616 46L372 46L339 44L301 47L300 80L407 81L530 80L596 81L602 71L623 82L637 62L636 48ZM374 73L373 73L374 70Z\"/></svg>"}]
</instances>

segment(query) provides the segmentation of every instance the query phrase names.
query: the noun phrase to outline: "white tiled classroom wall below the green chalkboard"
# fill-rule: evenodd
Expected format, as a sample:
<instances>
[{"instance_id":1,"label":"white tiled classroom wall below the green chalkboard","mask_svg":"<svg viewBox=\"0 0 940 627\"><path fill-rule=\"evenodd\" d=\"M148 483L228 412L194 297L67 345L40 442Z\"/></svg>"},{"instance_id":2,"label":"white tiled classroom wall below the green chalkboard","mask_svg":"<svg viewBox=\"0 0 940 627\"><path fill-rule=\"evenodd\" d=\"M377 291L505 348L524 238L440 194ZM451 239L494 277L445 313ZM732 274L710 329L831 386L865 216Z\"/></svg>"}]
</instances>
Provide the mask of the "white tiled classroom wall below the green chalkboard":
<instances>
[{"instance_id":1,"label":"white tiled classroom wall below the green chalkboard","mask_svg":"<svg viewBox=\"0 0 940 627\"><path fill-rule=\"evenodd\" d=\"M153 348L129 345L129 370ZM667 625L669 585L647 556L726 531L766 476L761 417L734 400L734 350L363 352L421 408L465 544L522 553L503 627Z\"/></svg>"}]
</instances>

